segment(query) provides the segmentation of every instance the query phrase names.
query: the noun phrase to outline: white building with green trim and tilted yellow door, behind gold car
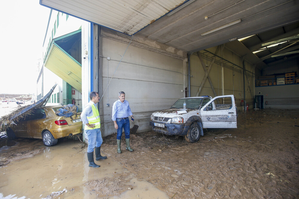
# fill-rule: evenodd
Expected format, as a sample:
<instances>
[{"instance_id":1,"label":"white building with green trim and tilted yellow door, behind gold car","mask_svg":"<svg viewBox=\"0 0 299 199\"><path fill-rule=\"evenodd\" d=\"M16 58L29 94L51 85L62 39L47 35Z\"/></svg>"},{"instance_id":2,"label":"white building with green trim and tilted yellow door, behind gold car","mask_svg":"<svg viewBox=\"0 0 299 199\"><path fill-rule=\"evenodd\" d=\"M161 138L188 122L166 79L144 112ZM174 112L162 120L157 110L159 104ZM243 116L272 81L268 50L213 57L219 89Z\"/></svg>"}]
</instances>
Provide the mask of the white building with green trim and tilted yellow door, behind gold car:
<instances>
[{"instance_id":1,"label":"white building with green trim and tilted yellow door, behind gold car","mask_svg":"<svg viewBox=\"0 0 299 199\"><path fill-rule=\"evenodd\" d=\"M69 73L71 70L65 71L64 64L68 63L63 60L68 57L69 60L76 62L77 73L81 76L81 26L83 23L88 24L78 18L51 10L43 41L42 58L39 60L36 100L41 99L57 83L47 105L75 104L82 109L81 83L72 85L76 80L70 81L65 78L64 73ZM49 57L53 56L61 61L51 63L53 58Z\"/></svg>"}]
</instances>

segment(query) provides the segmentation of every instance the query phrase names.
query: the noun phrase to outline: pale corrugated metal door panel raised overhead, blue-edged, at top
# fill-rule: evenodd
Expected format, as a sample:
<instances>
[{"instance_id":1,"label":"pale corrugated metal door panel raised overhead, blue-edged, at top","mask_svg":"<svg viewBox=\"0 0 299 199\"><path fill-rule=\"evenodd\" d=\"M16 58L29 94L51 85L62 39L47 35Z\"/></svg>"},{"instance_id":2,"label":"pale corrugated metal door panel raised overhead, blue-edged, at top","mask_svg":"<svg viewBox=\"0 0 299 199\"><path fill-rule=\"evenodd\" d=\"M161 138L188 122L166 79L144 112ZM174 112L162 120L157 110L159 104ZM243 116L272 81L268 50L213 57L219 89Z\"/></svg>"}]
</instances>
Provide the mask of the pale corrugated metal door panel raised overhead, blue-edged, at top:
<instances>
[{"instance_id":1,"label":"pale corrugated metal door panel raised overhead, blue-edged, at top","mask_svg":"<svg viewBox=\"0 0 299 199\"><path fill-rule=\"evenodd\" d=\"M132 35L186 0L40 0L84 20ZM188 1L188 0L187 0Z\"/></svg>"}]
</instances>

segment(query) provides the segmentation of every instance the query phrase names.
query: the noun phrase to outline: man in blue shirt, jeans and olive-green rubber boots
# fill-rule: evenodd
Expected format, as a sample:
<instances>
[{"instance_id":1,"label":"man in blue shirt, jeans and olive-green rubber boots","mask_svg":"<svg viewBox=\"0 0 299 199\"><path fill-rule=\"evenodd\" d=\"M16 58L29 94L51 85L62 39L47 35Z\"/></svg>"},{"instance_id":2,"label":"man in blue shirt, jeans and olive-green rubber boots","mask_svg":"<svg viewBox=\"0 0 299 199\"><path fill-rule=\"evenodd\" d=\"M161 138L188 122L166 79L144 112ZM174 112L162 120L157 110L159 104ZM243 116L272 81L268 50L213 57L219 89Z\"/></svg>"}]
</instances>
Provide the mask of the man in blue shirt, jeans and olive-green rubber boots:
<instances>
[{"instance_id":1,"label":"man in blue shirt, jeans and olive-green rubber boots","mask_svg":"<svg viewBox=\"0 0 299 199\"><path fill-rule=\"evenodd\" d=\"M118 101L115 101L112 107L112 121L114 122L114 127L117 129L117 152L121 153L120 150L120 140L123 130L125 132L125 140L126 140L126 149L130 152L133 151L130 148L130 121L128 116L131 117L131 120L134 121L133 113L131 112L131 108L129 106L129 102L125 100L125 93L120 91L118 93Z\"/></svg>"}]
</instances>

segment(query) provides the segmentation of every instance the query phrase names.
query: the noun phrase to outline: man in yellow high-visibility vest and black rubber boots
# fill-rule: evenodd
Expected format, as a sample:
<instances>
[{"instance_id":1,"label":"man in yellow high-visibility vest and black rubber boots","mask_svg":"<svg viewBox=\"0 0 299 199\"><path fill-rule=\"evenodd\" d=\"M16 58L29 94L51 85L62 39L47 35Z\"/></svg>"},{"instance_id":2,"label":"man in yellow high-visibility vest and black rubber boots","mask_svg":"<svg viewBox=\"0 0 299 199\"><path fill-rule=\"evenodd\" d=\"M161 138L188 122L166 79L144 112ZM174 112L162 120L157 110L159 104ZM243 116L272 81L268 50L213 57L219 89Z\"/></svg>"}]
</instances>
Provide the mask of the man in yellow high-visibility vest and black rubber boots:
<instances>
[{"instance_id":1,"label":"man in yellow high-visibility vest and black rubber boots","mask_svg":"<svg viewBox=\"0 0 299 199\"><path fill-rule=\"evenodd\" d=\"M100 114L97 109L97 103L100 101L99 93L92 91L89 94L89 98L89 103L85 106L81 113L81 120L84 124L84 129L88 139L87 158L89 166L100 167L100 165L94 163L94 147L96 160L107 159L107 156L101 155L101 144L103 143L103 138L100 131Z\"/></svg>"}]
</instances>

